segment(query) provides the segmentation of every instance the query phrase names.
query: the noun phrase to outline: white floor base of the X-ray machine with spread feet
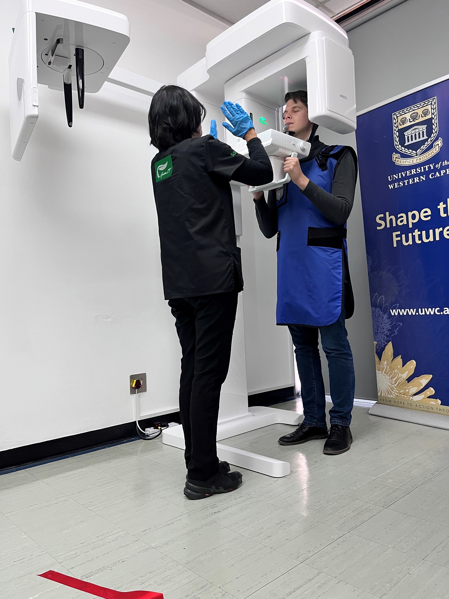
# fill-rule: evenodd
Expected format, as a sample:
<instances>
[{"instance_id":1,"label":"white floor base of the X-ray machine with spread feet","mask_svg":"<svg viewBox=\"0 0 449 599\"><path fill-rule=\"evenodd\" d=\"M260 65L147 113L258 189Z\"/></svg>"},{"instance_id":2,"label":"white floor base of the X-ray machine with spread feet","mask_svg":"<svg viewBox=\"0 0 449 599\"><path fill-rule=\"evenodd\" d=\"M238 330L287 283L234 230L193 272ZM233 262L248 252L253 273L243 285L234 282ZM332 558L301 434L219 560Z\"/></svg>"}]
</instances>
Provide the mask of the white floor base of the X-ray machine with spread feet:
<instances>
[{"instance_id":1,"label":"white floor base of the X-ray machine with spread feet","mask_svg":"<svg viewBox=\"0 0 449 599\"><path fill-rule=\"evenodd\" d=\"M251 412L236 418L222 420L217 426L217 441L241 435L244 432L255 431L263 426L271 424L298 425L302 421L302 414L289 412L289 410L278 410L272 407L254 406ZM162 432L162 443L185 449L183 427L171 426ZM257 453L247 452L243 449L230 447L217 443L217 455L220 460L226 460L230 464L280 478L290 474L289 462L279 459L268 458Z\"/></svg>"}]
</instances>

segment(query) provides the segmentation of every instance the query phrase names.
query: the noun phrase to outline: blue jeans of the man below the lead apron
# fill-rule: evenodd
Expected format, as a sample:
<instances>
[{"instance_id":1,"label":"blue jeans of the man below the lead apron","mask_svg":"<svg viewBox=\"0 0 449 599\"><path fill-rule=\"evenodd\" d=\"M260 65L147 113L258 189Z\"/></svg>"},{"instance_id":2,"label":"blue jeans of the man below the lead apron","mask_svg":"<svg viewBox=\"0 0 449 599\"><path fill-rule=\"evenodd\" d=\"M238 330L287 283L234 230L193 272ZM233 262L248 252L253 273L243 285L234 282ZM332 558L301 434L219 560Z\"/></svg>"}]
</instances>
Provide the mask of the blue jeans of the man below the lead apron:
<instances>
[{"instance_id":1,"label":"blue jeans of the man below the lead apron","mask_svg":"<svg viewBox=\"0 0 449 599\"><path fill-rule=\"evenodd\" d=\"M326 394L321 374L318 350L318 327L289 325L295 346L296 364L301 380L301 397L304 406L304 424L326 426ZM353 355L345 328L345 311L329 326L320 326L321 345L329 367L330 397L333 407L329 412L331 424L349 426L354 405Z\"/></svg>"}]
</instances>

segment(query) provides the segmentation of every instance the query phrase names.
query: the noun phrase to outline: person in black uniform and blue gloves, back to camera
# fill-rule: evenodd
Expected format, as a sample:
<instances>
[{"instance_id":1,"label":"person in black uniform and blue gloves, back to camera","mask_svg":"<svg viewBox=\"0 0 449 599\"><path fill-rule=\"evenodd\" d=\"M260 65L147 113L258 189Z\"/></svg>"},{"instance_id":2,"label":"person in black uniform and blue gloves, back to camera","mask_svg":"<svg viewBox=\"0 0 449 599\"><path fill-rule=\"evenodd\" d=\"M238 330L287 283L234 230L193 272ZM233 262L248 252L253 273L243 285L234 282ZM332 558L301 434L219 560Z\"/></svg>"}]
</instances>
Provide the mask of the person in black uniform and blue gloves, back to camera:
<instances>
[{"instance_id":1,"label":"person in black uniform and blue gloves, back to camera","mask_svg":"<svg viewBox=\"0 0 449 599\"><path fill-rule=\"evenodd\" d=\"M250 158L211 135L202 137L205 108L182 87L163 86L151 101L151 162L165 299L181 344L180 416L186 442L184 495L203 499L242 482L217 458L220 389L229 368L238 293L243 289L231 179L273 179L271 162L247 113L224 102L223 125L247 141ZM229 124L230 123L230 124Z\"/></svg>"}]
</instances>

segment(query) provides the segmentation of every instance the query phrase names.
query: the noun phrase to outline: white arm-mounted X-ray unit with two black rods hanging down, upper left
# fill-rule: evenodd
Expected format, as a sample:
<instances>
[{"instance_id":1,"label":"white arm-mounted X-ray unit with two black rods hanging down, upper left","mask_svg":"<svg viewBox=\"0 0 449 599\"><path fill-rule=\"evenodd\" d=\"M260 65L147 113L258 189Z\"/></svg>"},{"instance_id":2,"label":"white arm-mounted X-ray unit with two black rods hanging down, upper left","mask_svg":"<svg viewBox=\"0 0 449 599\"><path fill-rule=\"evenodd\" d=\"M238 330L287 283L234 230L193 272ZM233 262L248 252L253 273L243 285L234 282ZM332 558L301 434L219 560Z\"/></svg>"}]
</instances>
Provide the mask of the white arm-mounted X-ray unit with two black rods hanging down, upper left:
<instances>
[{"instance_id":1,"label":"white arm-mounted X-ray unit with two black rods hanging down, upper left","mask_svg":"<svg viewBox=\"0 0 449 599\"><path fill-rule=\"evenodd\" d=\"M98 92L129 43L129 21L77 0L22 0L11 44L11 152L20 161L39 116L38 83L63 90L72 126L72 79L78 106Z\"/></svg>"}]
</instances>

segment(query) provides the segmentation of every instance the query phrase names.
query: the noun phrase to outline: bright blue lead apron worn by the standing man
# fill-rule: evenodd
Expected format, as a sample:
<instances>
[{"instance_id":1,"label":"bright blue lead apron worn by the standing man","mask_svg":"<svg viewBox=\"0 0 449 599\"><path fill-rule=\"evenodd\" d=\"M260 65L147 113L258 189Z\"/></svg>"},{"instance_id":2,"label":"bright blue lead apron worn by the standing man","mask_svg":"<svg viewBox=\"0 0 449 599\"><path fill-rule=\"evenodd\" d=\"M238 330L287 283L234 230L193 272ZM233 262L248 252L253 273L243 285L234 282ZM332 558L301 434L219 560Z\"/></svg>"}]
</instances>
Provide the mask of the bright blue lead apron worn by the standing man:
<instances>
[{"instance_id":1,"label":"bright blue lead apron worn by the standing man","mask_svg":"<svg viewBox=\"0 0 449 599\"><path fill-rule=\"evenodd\" d=\"M301 163L302 172L330 193L334 156L342 149L332 148L326 170L313 159ZM278 197L277 324L332 325L344 301L346 225L337 227L323 216L293 181Z\"/></svg>"}]
</instances>

